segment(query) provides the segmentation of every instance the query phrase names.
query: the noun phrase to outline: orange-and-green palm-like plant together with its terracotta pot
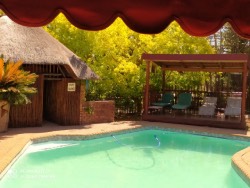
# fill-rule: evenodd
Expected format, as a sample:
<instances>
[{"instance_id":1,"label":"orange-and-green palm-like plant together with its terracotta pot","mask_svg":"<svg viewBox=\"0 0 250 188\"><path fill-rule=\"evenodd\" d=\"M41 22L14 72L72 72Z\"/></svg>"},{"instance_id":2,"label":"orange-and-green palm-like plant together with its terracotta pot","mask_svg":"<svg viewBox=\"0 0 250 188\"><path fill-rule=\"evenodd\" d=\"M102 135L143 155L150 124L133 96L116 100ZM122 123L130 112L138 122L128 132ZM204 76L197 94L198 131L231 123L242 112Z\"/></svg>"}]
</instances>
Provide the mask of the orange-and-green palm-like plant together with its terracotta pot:
<instances>
[{"instance_id":1,"label":"orange-and-green palm-like plant together with its terracotta pot","mask_svg":"<svg viewBox=\"0 0 250 188\"><path fill-rule=\"evenodd\" d=\"M37 75L21 66L22 61L4 61L0 57L0 132L8 129L10 105L28 104L28 95L36 93L32 84Z\"/></svg>"}]
</instances>

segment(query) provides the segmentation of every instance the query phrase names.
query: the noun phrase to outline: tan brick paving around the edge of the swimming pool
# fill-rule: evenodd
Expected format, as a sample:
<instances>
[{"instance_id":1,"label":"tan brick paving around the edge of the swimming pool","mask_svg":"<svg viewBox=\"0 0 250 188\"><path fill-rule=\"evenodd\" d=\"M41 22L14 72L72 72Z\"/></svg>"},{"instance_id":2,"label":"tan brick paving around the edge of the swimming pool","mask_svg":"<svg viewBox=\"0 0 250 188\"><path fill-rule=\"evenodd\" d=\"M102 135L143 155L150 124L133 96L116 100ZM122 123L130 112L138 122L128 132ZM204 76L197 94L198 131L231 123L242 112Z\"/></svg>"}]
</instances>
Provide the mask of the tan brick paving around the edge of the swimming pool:
<instances>
[{"instance_id":1,"label":"tan brick paving around the edge of the swimming pool","mask_svg":"<svg viewBox=\"0 0 250 188\"><path fill-rule=\"evenodd\" d=\"M159 122L119 121L81 126L58 126L53 123L45 122L42 127L15 128L9 129L6 133L0 133L0 173L2 175L4 174L7 167L11 164L11 161L18 156L25 145L27 145L31 140L46 139L53 136L98 135L152 126L198 133L211 133L250 138L250 131L246 130L199 127ZM232 161L233 164L236 165L236 168L243 172L243 175L245 176L243 178L245 178L250 185L250 147L235 154L232 157Z\"/></svg>"}]
</instances>

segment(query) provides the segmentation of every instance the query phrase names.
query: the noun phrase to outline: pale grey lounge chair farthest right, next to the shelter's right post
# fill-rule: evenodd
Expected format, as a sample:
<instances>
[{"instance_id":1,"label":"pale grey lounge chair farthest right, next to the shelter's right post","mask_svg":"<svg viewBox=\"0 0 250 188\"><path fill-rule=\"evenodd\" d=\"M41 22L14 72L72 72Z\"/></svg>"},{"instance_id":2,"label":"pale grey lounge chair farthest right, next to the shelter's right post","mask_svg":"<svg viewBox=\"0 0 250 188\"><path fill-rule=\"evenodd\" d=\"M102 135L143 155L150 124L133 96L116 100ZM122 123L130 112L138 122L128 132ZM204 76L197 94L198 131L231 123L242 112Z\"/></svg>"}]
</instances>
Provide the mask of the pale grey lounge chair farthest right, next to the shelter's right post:
<instances>
[{"instance_id":1,"label":"pale grey lounge chair farthest right, next to the shelter's right post","mask_svg":"<svg viewBox=\"0 0 250 188\"><path fill-rule=\"evenodd\" d=\"M228 97L227 106L225 108L225 116L241 115L241 97Z\"/></svg>"}]
</instances>

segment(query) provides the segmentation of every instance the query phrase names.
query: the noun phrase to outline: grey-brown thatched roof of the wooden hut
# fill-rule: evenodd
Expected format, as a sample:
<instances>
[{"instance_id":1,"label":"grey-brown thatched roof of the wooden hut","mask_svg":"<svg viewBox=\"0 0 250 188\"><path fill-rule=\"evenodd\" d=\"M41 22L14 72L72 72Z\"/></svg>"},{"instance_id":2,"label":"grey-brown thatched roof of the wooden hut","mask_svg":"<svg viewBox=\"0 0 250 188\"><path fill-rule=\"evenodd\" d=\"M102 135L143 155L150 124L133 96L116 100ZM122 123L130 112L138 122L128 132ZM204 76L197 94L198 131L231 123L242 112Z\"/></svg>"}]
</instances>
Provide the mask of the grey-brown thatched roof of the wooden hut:
<instances>
[{"instance_id":1,"label":"grey-brown thatched roof of the wooden hut","mask_svg":"<svg viewBox=\"0 0 250 188\"><path fill-rule=\"evenodd\" d=\"M40 27L25 27L0 17L0 55L4 59L23 60L24 64L63 65L75 79L98 76L62 43Z\"/></svg>"}]
</instances>

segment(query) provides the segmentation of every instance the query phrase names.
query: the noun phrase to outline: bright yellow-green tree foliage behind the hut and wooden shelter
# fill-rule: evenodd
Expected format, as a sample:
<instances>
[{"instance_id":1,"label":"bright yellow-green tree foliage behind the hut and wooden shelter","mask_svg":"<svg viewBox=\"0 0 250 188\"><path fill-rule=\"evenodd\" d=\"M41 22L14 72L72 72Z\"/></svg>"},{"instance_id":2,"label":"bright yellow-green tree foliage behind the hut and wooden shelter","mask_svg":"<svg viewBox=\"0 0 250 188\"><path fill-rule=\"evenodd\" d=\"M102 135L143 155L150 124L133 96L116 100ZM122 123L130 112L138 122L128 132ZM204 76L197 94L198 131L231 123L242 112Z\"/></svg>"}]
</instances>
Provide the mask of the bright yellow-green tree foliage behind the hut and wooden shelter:
<instances>
[{"instance_id":1,"label":"bright yellow-green tree foliage behind the hut and wooden shelter","mask_svg":"<svg viewBox=\"0 0 250 188\"><path fill-rule=\"evenodd\" d=\"M206 38L192 37L174 22L165 31L155 35L139 34L130 30L117 19L105 30L83 31L72 26L61 14L46 27L54 37L80 56L100 76L90 82L88 99L110 99L117 103L124 99L127 104L141 106L145 84L143 53L208 54L213 53ZM206 76L201 73L168 72L168 84L204 84ZM171 76L170 76L171 75ZM161 71L152 74L152 85L160 88ZM178 83L176 79L179 80Z\"/></svg>"}]
</instances>

